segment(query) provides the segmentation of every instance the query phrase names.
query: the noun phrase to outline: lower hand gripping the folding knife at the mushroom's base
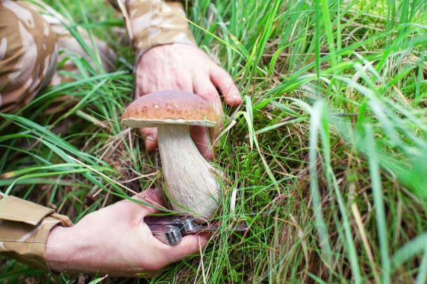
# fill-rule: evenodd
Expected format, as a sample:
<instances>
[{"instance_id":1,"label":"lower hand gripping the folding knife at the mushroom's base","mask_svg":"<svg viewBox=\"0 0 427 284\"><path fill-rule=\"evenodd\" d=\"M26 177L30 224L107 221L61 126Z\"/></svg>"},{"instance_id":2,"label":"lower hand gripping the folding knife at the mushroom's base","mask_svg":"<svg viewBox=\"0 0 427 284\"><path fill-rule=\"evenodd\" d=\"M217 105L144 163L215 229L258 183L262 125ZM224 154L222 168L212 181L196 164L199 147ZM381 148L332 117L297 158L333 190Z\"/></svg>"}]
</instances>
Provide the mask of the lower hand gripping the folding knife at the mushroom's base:
<instances>
[{"instance_id":1,"label":"lower hand gripping the folding knife at the mushroom's base","mask_svg":"<svg viewBox=\"0 0 427 284\"><path fill-rule=\"evenodd\" d=\"M147 189L133 198L165 206L157 189ZM73 227L56 226L46 243L47 264L54 271L149 277L207 244L207 233L186 235L174 246L163 244L144 223L144 216L158 212L121 200L84 216Z\"/></svg>"}]
</instances>

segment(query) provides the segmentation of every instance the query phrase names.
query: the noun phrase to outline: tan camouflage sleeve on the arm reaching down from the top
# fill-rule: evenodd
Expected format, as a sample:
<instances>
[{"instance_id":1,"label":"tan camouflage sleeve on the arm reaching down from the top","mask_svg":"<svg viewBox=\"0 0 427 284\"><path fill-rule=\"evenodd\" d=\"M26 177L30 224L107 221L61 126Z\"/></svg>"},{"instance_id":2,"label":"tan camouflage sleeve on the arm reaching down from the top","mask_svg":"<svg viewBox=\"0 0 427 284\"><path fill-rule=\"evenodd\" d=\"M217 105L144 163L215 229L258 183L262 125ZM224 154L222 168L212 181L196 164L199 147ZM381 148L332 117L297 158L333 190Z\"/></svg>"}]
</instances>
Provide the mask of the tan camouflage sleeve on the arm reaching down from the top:
<instances>
[{"instance_id":1,"label":"tan camouflage sleeve on the arm reaching down from the top","mask_svg":"<svg viewBox=\"0 0 427 284\"><path fill-rule=\"evenodd\" d=\"M137 61L151 47L169 43L196 45L179 2L162 0L110 0L119 7Z\"/></svg>"}]
</instances>

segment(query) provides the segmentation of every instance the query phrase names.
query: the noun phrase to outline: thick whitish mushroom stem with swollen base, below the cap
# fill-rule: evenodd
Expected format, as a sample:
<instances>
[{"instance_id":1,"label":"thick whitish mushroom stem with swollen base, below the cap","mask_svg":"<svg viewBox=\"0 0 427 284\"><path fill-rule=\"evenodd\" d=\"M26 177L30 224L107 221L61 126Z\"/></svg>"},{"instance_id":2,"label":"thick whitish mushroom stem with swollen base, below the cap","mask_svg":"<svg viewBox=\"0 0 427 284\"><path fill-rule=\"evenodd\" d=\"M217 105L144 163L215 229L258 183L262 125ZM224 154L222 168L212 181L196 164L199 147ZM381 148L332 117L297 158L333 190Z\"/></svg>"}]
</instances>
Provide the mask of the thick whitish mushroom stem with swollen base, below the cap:
<instances>
[{"instance_id":1,"label":"thick whitish mushroom stem with swollen base, below the cap","mask_svg":"<svg viewBox=\"0 0 427 284\"><path fill-rule=\"evenodd\" d=\"M174 210L211 219L218 208L220 186L215 169L200 155L188 125L158 125L158 149L167 196Z\"/></svg>"}]
</instances>

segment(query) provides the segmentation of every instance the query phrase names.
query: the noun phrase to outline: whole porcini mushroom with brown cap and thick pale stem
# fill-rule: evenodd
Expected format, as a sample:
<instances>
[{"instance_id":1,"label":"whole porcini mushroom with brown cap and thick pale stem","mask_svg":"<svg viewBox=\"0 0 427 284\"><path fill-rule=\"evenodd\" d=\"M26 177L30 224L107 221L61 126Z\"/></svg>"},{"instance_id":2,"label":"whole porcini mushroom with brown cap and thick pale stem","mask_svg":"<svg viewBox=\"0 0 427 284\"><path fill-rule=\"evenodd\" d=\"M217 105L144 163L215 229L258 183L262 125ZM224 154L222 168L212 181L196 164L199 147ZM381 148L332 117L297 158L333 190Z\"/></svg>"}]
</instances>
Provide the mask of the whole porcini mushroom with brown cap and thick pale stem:
<instances>
[{"instance_id":1,"label":"whole porcini mushroom with brown cap and thick pale stem","mask_svg":"<svg viewBox=\"0 0 427 284\"><path fill-rule=\"evenodd\" d=\"M213 127L218 116L209 103L186 91L149 93L130 104L121 117L128 127L157 127L166 194L181 214L211 219L218 208L220 186L215 170L197 150L188 127Z\"/></svg>"}]
</instances>

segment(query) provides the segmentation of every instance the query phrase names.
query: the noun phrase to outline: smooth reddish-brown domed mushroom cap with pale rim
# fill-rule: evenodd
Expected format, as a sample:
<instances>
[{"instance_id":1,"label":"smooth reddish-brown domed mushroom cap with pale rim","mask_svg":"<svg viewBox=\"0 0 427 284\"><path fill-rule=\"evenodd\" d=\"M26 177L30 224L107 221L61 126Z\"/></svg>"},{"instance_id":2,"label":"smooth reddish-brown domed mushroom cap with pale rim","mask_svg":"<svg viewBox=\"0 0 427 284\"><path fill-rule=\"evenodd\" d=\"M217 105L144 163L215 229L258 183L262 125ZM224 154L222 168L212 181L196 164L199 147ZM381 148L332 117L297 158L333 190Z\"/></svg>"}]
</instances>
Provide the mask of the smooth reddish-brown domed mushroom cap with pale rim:
<instances>
[{"instance_id":1,"label":"smooth reddish-brown domed mushroom cap with pale rim","mask_svg":"<svg viewBox=\"0 0 427 284\"><path fill-rule=\"evenodd\" d=\"M202 97L184 90L161 90L138 98L126 108L121 123L128 127L159 124L215 126L213 107Z\"/></svg>"}]
</instances>

